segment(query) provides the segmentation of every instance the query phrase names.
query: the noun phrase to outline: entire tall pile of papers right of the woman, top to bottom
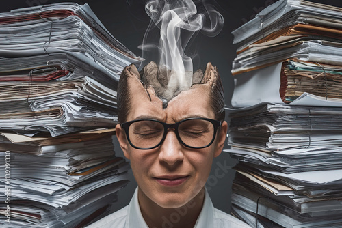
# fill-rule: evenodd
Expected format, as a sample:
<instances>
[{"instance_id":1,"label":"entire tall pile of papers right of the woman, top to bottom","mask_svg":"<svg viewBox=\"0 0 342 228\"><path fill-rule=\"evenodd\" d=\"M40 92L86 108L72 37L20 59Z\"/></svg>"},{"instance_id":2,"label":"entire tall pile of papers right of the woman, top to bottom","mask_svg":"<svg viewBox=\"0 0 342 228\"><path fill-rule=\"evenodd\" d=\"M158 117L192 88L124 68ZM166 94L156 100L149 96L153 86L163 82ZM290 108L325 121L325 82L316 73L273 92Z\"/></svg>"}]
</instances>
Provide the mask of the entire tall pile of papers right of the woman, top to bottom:
<instances>
[{"instance_id":1,"label":"entire tall pile of papers right of the woman, top to bottom","mask_svg":"<svg viewBox=\"0 0 342 228\"><path fill-rule=\"evenodd\" d=\"M308 1L277 1L234 31L246 65L233 67L236 109L230 111L226 152L239 163L231 212L252 227L342 226L341 50L337 36L324 30L333 30L341 11ZM256 23L259 31L251 26ZM276 42L287 29L300 32L284 33L285 46L250 50ZM305 41L298 44L298 36ZM313 37L320 41L311 44ZM326 48L337 52L328 54Z\"/></svg>"}]
</instances>

